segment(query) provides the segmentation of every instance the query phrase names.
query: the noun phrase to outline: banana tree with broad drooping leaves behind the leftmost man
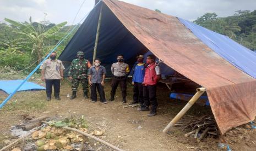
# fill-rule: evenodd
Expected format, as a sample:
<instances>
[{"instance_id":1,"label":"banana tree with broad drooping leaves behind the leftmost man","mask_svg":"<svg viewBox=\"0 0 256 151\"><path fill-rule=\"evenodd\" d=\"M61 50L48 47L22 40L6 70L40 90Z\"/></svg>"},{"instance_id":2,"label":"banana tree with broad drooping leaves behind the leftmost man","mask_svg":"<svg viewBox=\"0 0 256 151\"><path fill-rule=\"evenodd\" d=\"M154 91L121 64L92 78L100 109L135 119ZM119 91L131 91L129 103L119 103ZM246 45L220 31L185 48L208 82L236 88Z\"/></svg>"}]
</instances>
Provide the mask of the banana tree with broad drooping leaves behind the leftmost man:
<instances>
[{"instance_id":1,"label":"banana tree with broad drooping leaves behind the leftmost man","mask_svg":"<svg viewBox=\"0 0 256 151\"><path fill-rule=\"evenodd\" d=\"M44 30L41 24L38 24L37 27L33 26L31 18L30 22L18 22L7 18L5 18L4 20L9 22L9 24L11 24L12 26L16 27L13 32L20 34L25 38L26 42L30 42L32 44L31 54L35 55L38 63L40 63L40 60L44 55L44 42L47 39L56 37L58 31L67 24L67 22L65 21L51 27L48 30Z\"/></svg>"}]
</instances>

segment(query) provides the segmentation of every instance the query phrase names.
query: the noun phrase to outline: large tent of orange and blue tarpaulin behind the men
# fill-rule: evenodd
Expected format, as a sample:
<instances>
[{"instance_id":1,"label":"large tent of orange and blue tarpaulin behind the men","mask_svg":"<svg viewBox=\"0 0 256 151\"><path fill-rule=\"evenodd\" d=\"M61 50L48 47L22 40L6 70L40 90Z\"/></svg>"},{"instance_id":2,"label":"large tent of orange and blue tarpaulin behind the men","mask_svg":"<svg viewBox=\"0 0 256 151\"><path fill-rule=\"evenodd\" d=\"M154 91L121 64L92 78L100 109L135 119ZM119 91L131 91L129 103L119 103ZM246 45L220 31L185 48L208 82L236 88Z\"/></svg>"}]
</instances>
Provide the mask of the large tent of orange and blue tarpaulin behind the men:
<instances>
[{"instance_id":1,"label":"large tent of orange and blue tarpaulin behind the men","mask_svg":"<svg viewBox=\"0 0 256 151\"><path fill-rule=\"evenodd\" d=\"M256 80L253 77L256 72L249 66L254 65L256 56L250 50L244 47L231 48L233 44L239 44L229 38L221 42L218 39L223 38L218 37L221 35L197 31L197 26L193 27L194 24L185 20L136 5L116 0L101 1L59 56L67 69L79 50L85 52L87 59L92 59L101 7L97 57L108 72L117 54L124 54L126 62L132 67L135 56L150 50L168 67L206 88L211 109L222 133L254 119ZM215 39L211 39L208 34L216 36ZM239 54L249 57L241 60Z\"/></svg>"}]
</instances>

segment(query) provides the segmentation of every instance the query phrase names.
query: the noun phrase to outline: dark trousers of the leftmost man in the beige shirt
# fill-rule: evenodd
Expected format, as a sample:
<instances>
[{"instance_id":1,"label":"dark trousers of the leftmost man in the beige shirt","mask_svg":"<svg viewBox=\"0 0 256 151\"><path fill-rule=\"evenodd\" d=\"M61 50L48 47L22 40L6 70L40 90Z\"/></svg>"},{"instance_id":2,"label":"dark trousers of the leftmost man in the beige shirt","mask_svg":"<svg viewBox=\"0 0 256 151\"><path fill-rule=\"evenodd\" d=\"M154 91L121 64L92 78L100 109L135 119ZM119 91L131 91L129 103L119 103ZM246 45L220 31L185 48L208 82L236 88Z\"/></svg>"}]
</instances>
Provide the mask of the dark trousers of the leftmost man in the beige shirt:
<instances>
[{"instance_id":1,"label":"dark trousers of the leftmost man in the beige shirt","mask_svg":"<svg viewBox=\"0 0 256 151\"><path fill-rule=\"evenodd\" d=\"M52 96L52 85L54 88L54 96L59 97L59 89L61 87L61 80L58 79L53 79L53 80L45 80L45 85L46 85L46 95L47 97Z\"/></svg>"}]
</instances>

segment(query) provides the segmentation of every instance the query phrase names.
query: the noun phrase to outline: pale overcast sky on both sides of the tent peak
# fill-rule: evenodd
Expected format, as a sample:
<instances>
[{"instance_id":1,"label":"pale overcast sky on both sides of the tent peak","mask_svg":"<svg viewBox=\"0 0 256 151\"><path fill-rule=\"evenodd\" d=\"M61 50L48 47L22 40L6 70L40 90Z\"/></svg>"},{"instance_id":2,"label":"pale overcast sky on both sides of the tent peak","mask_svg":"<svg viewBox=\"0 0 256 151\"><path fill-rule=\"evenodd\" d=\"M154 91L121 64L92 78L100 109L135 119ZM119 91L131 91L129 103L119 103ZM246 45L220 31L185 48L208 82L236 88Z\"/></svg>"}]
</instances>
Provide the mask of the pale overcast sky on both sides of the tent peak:
<instances>
[{"instance_id":1,"label":"pale overcast sky on both sides of the tent peak","mask_svg":"<svg viewBox=\"0 0 256 151\"><path fill-rule=\"evenodd\" d=\"M9 18L17 21L46 20L53 23L68 21L72 24L84 0L0 0L0 21ZM256 9L256 0L123 0L162 13L193 21L204 13L217 13L218 16L233 15L236 10ZM94 0L85 0L75 23L80 21L94 6Z\"/></svg>"}]
</instances>

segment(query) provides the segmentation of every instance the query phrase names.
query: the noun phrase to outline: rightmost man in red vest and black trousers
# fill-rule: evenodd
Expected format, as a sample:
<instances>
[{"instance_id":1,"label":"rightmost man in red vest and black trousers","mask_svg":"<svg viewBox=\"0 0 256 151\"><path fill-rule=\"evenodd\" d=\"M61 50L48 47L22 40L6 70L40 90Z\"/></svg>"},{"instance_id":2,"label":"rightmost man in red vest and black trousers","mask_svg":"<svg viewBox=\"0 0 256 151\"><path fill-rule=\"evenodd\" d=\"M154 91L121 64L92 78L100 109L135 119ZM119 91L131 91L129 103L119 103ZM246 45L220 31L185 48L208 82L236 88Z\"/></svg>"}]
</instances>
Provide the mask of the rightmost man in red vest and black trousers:
<instances>
[{"instance_id":1,"label":"rightmost man in red vest and black trousers","mask_svg":"<svg viewBox=\"0 0 256 151\"><path fill-rule=\"evenodd\" d=\"M138 108L138 111L149 111L149 104L152 104L152 108L149 117L156 115L157 100L156 100L156 85L161 78L160 67L156 65L156 57L154 55L148 55L146 57L146 69L145 77L143 81L143 105Z\"/></svg>"}]
</instances>

